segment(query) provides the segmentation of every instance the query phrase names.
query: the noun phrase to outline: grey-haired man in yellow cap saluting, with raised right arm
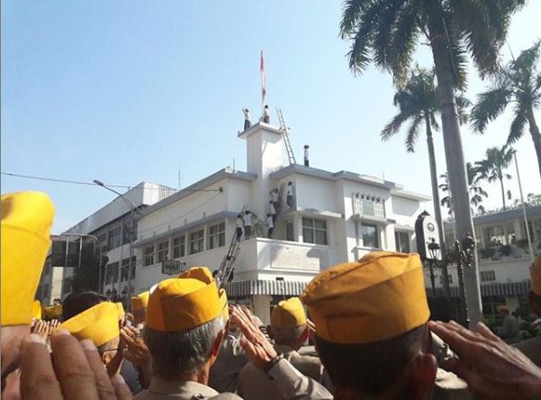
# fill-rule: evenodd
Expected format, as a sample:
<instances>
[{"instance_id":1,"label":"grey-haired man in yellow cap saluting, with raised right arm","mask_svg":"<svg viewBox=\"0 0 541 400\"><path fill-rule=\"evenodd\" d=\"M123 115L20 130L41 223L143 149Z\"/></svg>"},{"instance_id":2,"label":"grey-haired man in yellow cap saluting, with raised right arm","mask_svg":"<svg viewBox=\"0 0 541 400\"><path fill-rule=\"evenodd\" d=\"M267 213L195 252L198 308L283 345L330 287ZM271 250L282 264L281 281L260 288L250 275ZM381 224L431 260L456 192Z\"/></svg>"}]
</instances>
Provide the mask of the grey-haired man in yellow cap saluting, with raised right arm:
<instances>
[{"instance_id":1,"label":"grey-haired man in yellow cap saluting, with raised right arm","mask_svg":"<svg viewBox=\"0 0 541 400\"><path fill-rule=\"evenodd\" d=\"M225 291L218 290L208 268L190 268L178 278L160 282L150 294L143 330L152 356L152 378L149 389L135 398L239 398L231 393L219 395L208 386L210 370L227 332L228 317ZM248 356L275 377L284 398L330 398L319 395L316 390L321 386L306 382L307 378L302 379L291 364L278 359L251 320L236 318L233 322L244 333L241 343L251 346ZM252 351L256 346L263 348Z\"/></svg>"}]
</instances>

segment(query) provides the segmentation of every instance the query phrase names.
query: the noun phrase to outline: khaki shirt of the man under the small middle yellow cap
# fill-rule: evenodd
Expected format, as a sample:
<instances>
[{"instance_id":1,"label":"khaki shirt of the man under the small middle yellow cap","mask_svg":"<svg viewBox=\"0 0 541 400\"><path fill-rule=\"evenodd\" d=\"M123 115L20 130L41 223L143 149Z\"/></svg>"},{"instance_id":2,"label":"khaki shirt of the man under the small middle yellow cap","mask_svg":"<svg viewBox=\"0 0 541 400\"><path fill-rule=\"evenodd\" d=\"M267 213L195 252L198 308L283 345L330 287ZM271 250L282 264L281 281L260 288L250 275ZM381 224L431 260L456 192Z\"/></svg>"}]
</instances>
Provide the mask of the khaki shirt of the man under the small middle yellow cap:
<instances>
[{"instance_id":1,"label":"khaki shirt of the man under the small middle yellow cap","mask_svg":"<svg viewBox=\"0 0 541 400\"><path fill-rule=\"evenodd\" d=\"M302 356L292 348L283 345L275 345L275 350L283 353L284 359L287 359L304 377L320 382L323 367L319 358ZM275 382L251 362L240 370L238 393L246 399L275 400L283 398L275 386Z\"/></svg>"}]
</instances>

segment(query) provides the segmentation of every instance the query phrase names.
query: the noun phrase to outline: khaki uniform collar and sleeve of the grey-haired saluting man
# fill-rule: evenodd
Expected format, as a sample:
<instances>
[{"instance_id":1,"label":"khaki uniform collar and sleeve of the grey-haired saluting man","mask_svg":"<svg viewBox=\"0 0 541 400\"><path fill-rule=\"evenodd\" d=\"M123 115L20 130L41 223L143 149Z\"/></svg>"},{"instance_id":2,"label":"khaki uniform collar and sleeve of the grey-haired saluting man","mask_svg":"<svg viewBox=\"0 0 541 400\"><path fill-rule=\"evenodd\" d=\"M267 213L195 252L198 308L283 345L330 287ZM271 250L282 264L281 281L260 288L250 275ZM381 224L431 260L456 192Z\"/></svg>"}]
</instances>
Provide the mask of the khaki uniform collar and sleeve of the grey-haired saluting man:
<instances>
[{"instance_id":1,"label":"khaki uniform collar and sleeve of the grey-haired saluting man","mask_svg":"<svg viewBox=\"0 0 541 400\"><path fill-rule=\"evenodd\" d=\"M285 400L327 400L332 395L317 382L304 377L286 359L278 361L268 371L271 382L274 382L278 389L279 397ZM270 379L269 379L270 380ZM162 400L167 398L191 399L216 399L216 400L239 400L241 397L232 393L216 392L212 387L197 382L167 381L157 377L150 380L148 390L141 392L134 397L135 400ZM251 400L250 397L247 397ZM259 399L259 393L254 399Z\"/></svg>"}]
</instances>

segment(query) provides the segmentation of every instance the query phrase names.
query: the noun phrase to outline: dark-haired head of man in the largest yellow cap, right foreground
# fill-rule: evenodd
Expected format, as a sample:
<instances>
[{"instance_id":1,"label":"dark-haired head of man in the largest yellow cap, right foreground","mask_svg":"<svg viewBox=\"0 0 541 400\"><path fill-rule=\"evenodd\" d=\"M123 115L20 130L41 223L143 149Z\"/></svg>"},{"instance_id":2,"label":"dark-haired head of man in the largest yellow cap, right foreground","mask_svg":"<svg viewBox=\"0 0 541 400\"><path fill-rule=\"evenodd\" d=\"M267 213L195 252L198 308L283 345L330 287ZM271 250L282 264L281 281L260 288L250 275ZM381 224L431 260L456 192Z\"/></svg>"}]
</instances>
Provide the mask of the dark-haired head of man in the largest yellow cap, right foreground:
<instances>
[{"instance_id":1,"label":"dark-haired head of man in the largest yellow cap, right foreground","mask_svg":"<svg viewBox=\"0 0 541 400\"><path fill-rule=\"evenodd\" d=\"M302 302L335 398L429 398L437 359L419 255L374 251L326 269Z\"/></svg>"}]
</instances>

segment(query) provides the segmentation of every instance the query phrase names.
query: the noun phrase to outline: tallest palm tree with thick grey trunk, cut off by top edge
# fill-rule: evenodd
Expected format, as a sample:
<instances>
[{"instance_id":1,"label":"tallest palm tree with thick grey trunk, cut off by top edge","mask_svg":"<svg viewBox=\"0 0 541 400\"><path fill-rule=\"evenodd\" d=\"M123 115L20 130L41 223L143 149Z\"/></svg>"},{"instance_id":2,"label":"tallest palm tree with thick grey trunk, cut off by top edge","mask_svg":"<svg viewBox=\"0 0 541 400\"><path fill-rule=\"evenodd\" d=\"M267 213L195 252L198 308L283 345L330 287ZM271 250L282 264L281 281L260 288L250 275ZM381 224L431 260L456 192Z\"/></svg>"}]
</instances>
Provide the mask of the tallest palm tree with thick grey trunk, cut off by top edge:
<instances>
[{"instance_id":1,"label":"tallest palm tree with thick grey trunk, cut off by top edge","mask_svg":"<svg viewBox=\"0 0 541 400\"><path fill-rule=\"evenodd\" d=\"M473 234L464 151L455 89L464 89L466 53L482 76L498 67L511 15L525 0L345 0L340 34L351 40L349 68L359 74L371 62L401 86L424 36L437 76L446 165L455 202L455 231ZM475 256L476 257L476 256ZM482 320L477 263L465 269L467 305L473 324Z\"/></svg>"}]
</instances>

